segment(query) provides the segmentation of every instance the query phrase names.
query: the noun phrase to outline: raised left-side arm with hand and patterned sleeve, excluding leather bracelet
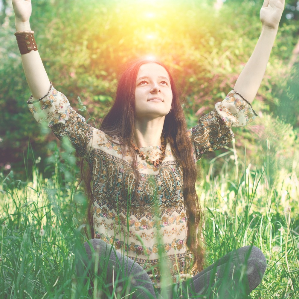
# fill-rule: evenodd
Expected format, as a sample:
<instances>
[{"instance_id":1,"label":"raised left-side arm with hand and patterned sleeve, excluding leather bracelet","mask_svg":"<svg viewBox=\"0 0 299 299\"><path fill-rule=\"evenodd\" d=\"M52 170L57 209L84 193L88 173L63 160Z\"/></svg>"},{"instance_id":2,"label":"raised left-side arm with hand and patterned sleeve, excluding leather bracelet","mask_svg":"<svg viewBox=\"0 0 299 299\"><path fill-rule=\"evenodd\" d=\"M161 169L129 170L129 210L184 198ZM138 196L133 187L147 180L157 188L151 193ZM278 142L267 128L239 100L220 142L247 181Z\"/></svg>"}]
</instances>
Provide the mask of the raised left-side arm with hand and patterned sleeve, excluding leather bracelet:
<instances>
[{"instance_id":1,"label":"raised left-side arm with hand and patterned sleeve, excluding leather bracelet","mask_svg":"<svg viewBox=\"0 0 299 299\"><path fill-rule=\"evenodd\" d=\"M16 30L31 30L30 0L12 0ZM93 129L83 116L71 108L64 94L57 91L48 79L38 51L22 54L22 63L32 96L28 107L39 123L52 128L57 138L67 137L79 156L87 157L91 148ZM51 87L51 89L50 89Z\"/></svg>"}]
</instances>

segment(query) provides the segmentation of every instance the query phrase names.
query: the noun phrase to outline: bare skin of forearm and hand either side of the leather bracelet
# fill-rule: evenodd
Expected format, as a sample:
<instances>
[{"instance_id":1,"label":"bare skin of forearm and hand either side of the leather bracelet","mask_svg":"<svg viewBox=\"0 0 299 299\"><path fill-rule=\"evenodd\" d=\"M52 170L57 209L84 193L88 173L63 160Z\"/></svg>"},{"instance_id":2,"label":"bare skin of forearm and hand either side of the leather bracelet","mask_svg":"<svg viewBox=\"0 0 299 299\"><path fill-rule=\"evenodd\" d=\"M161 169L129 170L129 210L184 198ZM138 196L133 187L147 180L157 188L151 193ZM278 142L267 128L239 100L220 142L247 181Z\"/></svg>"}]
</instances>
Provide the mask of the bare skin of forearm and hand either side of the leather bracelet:
<instances>
[{"instance_id":1,"label":"bare skin of forearm and hand either side of the leather bracelet","mask_svg":"<svg viewBox=\"0 0 299 299\"><path fill-rule=\"evenodd\" d=\"M16 31L31 30L31 0L12 0L15 12ZM22 54L25 76L34 99L40 99L48 93L50 81L38 51Z\"/></svg>"}]
</instances>

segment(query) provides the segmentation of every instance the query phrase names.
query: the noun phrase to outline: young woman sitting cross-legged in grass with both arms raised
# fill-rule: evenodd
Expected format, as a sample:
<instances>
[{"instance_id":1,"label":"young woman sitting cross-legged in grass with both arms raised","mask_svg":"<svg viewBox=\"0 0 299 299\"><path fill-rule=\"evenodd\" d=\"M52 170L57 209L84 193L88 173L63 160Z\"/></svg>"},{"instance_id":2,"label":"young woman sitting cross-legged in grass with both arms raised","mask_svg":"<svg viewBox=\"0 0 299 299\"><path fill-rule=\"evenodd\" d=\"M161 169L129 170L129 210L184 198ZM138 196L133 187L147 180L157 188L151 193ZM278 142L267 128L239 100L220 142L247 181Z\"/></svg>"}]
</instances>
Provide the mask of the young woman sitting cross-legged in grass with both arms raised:
<instances>
[{"instance_id":1,"label":"young woman sitting cross-legged in grass with both arms raised","mask_svg":"<svg viewBox=\"0 0 299 299\"><path fill-rule=\"evenodd\" d=\"M195 162L228 144L234 137L232 126L254 119L250 102L263 78L284 0L264 1L262 33L234 89L190 130L169 70L148 60L134 61L124 71L100 129L87 124L49 82L29 24L30 0L12 2L15 35L32 91L29 109L58 138L69 138L89 164L94 239L85 247L91 263L95 252L99 272L108 283L117 280L118 290L126 288L132 298L248 295L266 269L258 248L239 248L202 269ZM190 267L196 274L176 285L178 274L186 276ZM159 294L167 274L174 284Z\"/></svg>"}]
</instances>

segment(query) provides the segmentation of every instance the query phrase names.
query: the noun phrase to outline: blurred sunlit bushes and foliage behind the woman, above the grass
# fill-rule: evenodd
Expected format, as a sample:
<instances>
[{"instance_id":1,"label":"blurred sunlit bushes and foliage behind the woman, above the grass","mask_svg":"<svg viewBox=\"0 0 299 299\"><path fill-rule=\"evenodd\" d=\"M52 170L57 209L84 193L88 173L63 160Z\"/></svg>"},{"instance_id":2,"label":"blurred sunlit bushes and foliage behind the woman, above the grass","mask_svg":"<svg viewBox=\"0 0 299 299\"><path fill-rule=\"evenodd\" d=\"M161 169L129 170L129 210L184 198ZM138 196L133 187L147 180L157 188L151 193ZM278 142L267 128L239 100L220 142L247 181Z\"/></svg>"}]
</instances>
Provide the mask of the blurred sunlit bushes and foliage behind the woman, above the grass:
<instances>
[{"instance_id":1,"label":"blurred sunlit bushes and foliage behind the woman, above the grass","mask_svg":"<svg viewBox=\"0 0 299 299\"><path fill-rule=\"evenodd\" d=\"M241 157L246 148L247 159L257 163L260 153L270 146L275 167L291 165L293 152L298 151L299 61L292 51L299 36L299 2L286 2L254 102L261 117L235 130ZM227 0L219 9L215 3L33 0L30 24L50 80L75 109L86 106L87 111L80 112L84 117L100 122L111 105L123 63L154 56L172 69L192 126L234 86L261 29L262 1ZM0 171L24 173L28 141L35 156L41 157L43 171L56 139L36 123L27 108L30 91L13 35L10 1L0 1L0 10Z\"/></svg>"}]
</instances>

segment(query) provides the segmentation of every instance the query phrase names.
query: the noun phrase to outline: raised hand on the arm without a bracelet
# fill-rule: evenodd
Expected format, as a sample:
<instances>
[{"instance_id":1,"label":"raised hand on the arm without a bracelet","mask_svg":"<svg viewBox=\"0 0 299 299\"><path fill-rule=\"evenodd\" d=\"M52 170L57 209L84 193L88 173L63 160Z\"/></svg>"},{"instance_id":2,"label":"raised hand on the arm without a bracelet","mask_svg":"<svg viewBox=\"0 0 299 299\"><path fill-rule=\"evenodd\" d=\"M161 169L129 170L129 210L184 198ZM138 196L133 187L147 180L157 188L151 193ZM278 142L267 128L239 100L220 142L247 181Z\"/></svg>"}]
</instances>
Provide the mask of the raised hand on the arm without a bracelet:
<instances>
[{"instance_id":1,"label":"raised hand on the arm without a bracelet","mask_svg":"<svg viewBox=\"0 0 299 299\"><path fill-rule=\"evenodd\" d=\"M277 30L284 4L285 0L264 0L260 10L260 20L263 27Z\"/></svg>"}]
</instances>

